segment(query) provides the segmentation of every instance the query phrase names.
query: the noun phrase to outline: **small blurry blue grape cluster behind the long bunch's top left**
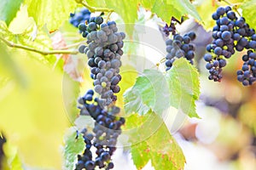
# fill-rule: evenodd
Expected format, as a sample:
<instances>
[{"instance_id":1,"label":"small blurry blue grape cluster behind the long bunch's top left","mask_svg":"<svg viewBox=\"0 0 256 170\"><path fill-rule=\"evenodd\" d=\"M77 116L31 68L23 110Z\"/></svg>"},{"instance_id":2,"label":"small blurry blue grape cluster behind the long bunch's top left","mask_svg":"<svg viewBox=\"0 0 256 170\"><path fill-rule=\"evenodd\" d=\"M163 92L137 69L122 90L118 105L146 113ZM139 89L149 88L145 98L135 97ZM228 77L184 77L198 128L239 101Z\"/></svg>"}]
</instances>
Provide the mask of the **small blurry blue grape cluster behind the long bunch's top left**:
<instances>
[{"instance_id":1,"label":"small blurry blue grape cluster behind the long bunch's top left","mask_svg":"<svg viewBox=\"0 0 256 170\"><path fill-rule=\"evenodd\" d=\"M80 23L90 20L90 11L87 8L81 8L77 13L70 13L69 22L75 27L79 27Z\"/></svg>"}]
</instances>

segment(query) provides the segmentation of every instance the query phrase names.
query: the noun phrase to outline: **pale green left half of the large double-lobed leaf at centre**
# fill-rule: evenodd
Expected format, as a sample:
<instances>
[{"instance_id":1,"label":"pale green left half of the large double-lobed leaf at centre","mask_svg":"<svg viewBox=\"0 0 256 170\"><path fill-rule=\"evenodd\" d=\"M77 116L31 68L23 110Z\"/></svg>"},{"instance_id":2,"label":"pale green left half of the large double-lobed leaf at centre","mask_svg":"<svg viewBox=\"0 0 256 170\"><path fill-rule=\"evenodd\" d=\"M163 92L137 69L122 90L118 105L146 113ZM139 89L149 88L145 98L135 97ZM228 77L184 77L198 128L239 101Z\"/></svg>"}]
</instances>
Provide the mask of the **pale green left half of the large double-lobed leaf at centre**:
<instances>
[{"instance_id":1,"label":"pale green left half of the large double-lobed leaf at centre","mask_svg":"<svg viewBox=\"0 0 256 170\"><path fill-rule=\"evenodd\" d=\"M143 115L151 108L158 114L169 105L169 91L166 78L160 71L145 70L138 77L133 88L125 94L125 112Z\"/></svg>"}]
</instances>

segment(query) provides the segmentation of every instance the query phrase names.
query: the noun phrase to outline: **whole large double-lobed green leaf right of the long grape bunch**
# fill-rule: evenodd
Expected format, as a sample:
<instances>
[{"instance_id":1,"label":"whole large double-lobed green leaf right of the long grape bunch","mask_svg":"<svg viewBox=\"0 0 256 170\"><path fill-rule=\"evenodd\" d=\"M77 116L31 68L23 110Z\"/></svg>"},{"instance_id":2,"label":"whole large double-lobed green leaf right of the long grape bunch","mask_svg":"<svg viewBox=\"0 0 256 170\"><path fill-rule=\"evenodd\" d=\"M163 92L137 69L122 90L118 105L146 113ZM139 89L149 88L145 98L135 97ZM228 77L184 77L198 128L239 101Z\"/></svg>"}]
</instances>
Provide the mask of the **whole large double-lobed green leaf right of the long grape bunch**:
<instances>
[{"instance_id":1,"label":"whole large double-lobed green leaf right of the long grape bunch","mask_svg":"<svg viewBox=\"0 0 256 170\"><path fill-rule=\"evenodd\" d=\"M177 59L166 75L146 70L125 94L125 112L146 114L152 109L162 115L170 106L181 109L190 117L198 117L195 100L199 98L199 74L187 59Z\"/></svg>"}]
</instances>

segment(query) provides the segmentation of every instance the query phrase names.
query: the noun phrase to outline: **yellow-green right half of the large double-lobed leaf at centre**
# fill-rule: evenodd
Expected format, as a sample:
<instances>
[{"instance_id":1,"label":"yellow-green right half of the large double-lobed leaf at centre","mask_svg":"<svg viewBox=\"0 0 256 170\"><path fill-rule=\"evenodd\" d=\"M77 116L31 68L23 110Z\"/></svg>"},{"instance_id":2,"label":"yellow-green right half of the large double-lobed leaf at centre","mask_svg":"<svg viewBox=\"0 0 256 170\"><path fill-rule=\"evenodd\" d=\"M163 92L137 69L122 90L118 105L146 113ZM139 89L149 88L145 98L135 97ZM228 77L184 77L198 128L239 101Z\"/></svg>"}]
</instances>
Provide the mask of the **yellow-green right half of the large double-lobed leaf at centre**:
<instances>
[{"instance_id":1,"label":"yellow-green right half of the large double-lobed leaf at centre","mask_svg":"<svg viewBox=\"0 0 256 170\"><path fill-rule=\"evenodd\" d=\"M169 82L171 105L181 108L190 117L198 117L195 111L195 100L199 99L199 73L187 59L177 59L172 69L167 71L166 80Z\"/></svg>"}]
</instances>

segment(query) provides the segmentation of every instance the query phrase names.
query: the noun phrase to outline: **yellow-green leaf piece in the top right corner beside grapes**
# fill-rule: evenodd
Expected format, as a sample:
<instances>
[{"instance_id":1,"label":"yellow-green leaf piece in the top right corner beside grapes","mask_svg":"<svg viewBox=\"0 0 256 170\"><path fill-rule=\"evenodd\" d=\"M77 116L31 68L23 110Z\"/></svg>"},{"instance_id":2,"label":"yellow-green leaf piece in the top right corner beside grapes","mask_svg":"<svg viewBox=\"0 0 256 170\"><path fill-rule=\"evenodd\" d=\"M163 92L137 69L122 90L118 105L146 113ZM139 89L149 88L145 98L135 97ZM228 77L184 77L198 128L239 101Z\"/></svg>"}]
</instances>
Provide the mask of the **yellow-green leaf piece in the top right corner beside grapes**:
<instances>
[{"instance_id":1,"label":"yellow-green leaf piece in the top right corner beside grapes","mask_svg":"<svg viewBox=\"0 0 256 170\"><path fill-rule=\"evenodd\" d=\"M256 0L247 0L245 3L242 3L242 16L247 20L247 24L252 28L256 28Z\"/></svg>"}]
</instances>

